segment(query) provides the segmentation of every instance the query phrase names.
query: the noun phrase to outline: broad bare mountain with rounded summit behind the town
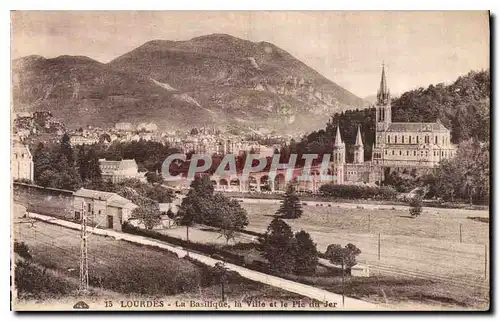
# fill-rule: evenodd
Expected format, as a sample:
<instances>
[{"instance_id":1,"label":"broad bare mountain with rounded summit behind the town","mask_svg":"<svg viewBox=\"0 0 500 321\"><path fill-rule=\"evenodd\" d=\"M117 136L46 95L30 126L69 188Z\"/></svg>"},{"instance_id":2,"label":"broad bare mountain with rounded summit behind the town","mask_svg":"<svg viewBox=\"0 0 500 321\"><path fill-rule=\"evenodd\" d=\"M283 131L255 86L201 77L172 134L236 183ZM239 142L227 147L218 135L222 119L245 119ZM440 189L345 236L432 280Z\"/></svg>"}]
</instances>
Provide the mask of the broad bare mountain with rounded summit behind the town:
<instances>
[{"instance_id":1,"label":"broad bare mountain with rounded summit behind the town","mask_svg":"<svg viewBox=\"0 0 500 321\"><path fill-rule=\"evenodd\" d=\"M367 103L268 42L224 34L155 40L107 64L29 56L12 64L16 110L50 110L68 127L152 121L309 131Z\"/></svg>"}]
</instances>

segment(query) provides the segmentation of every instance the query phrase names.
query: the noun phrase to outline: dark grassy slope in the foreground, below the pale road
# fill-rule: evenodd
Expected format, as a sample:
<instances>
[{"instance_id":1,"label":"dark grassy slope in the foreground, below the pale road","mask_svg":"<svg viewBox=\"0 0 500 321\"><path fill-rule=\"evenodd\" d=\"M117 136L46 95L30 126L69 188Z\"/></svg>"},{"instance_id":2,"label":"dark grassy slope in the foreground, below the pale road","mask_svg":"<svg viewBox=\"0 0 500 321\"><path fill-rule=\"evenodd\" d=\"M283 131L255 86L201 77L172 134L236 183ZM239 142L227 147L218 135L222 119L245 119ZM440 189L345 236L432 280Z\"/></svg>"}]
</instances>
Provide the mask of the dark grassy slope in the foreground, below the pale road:
<instances>
[{"instance_id":1,"label":"dark grassy slope in the foreground, below the pale road","mask_svg":"<svg viewBox=\"0 0 500 321\"><path fill-rule=\"evenodd\" d=\"M15 229L16 239L25 242L37 267L64 284L64 291L47 289L47 282L35 278L31 287L46 295L72 295L79 275L79 232L37 221ZM38 268L37 268L38 269ZM36 269L35 269L36 270ZM35 271L36 272L36 271ZM30 272L31 273L31 272ZM38 272L37 272L38 273ZM29 274L28 274L29 275ZM35 273L35 275L38 275ZM89 238L90 285L96 294L133 297L218 298L220 287L211 270L199 263L179 259L175 254L146 246L93 235ZM42 289L41 287L45 287ZM24 293L24 298L33 297ZM36 293L35 293L36 294ZM226 284L230 300L267 298L308 299L261 283L232 275ZM23 297L23 296L21 296ZM36 297L36 295L35 295ZM48 298L43 297L41 299Z\"/></svg>"}]
</instances>

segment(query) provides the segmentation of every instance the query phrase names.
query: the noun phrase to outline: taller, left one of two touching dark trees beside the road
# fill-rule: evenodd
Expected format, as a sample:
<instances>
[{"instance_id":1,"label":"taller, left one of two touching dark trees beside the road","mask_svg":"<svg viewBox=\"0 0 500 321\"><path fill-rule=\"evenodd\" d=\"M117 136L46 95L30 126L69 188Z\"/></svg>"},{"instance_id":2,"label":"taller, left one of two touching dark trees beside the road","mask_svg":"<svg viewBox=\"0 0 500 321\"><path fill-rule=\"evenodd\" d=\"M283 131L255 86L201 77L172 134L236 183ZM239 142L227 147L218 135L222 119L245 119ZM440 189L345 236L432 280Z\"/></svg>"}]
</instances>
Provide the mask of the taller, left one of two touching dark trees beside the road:
<instances>
[{"instance_id":1,"label":"taller, left one of two touching dark trees beside the road","mask_svg":"<svg viewBox=\"0 0 500 321\"><path fill-rule=\"evenodd\" d=\"M272 270L290 273L295 265L295 242L290 226L280 218L274 218L260 239L264 258Z\"/></svg>"}]
</instances>

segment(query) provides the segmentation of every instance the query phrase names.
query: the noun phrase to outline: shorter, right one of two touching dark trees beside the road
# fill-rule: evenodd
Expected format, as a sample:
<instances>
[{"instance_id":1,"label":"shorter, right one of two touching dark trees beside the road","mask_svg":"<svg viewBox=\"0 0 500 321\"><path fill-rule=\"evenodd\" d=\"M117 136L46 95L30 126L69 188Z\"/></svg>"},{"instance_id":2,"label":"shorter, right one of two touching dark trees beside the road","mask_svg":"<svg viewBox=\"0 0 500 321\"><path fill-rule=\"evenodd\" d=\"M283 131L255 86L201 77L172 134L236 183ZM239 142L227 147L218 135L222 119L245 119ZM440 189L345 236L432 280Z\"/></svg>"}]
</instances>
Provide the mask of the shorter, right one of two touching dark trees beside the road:
<instances>
[{"instance_id":1,"label":"shorter, right one of two touching dark trees beside the road","mask_svg":"<svg viewBox=\"0 0 500 321\"><path fill-rule=\"evenodd\" d=\"M295 233L295 268L297 274L311 275L316 272L318 251L311 235L306 231Z\"/></svg>"}]
</instances>

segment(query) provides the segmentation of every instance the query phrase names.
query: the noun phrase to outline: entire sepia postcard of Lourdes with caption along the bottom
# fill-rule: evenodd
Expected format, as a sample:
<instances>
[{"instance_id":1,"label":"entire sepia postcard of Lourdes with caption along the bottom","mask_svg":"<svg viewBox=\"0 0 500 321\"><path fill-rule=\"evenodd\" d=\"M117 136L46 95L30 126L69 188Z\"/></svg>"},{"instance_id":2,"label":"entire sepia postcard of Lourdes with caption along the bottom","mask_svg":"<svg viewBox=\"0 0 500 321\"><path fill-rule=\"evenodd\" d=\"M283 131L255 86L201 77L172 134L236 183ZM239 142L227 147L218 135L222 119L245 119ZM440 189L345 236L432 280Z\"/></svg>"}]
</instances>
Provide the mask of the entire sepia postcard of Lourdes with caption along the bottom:
<instances>
[{"instance_id":1,"label":"entire sepia postcard of Lourdes with caption along the bottom","mask_svg":"<svg viewBox=\"0 0 500 321\"><path fill-rule=\"evenodd\" d=\"M13 311L490 310L490 12L10 20Z\"/></svg>"}]
</instances>

